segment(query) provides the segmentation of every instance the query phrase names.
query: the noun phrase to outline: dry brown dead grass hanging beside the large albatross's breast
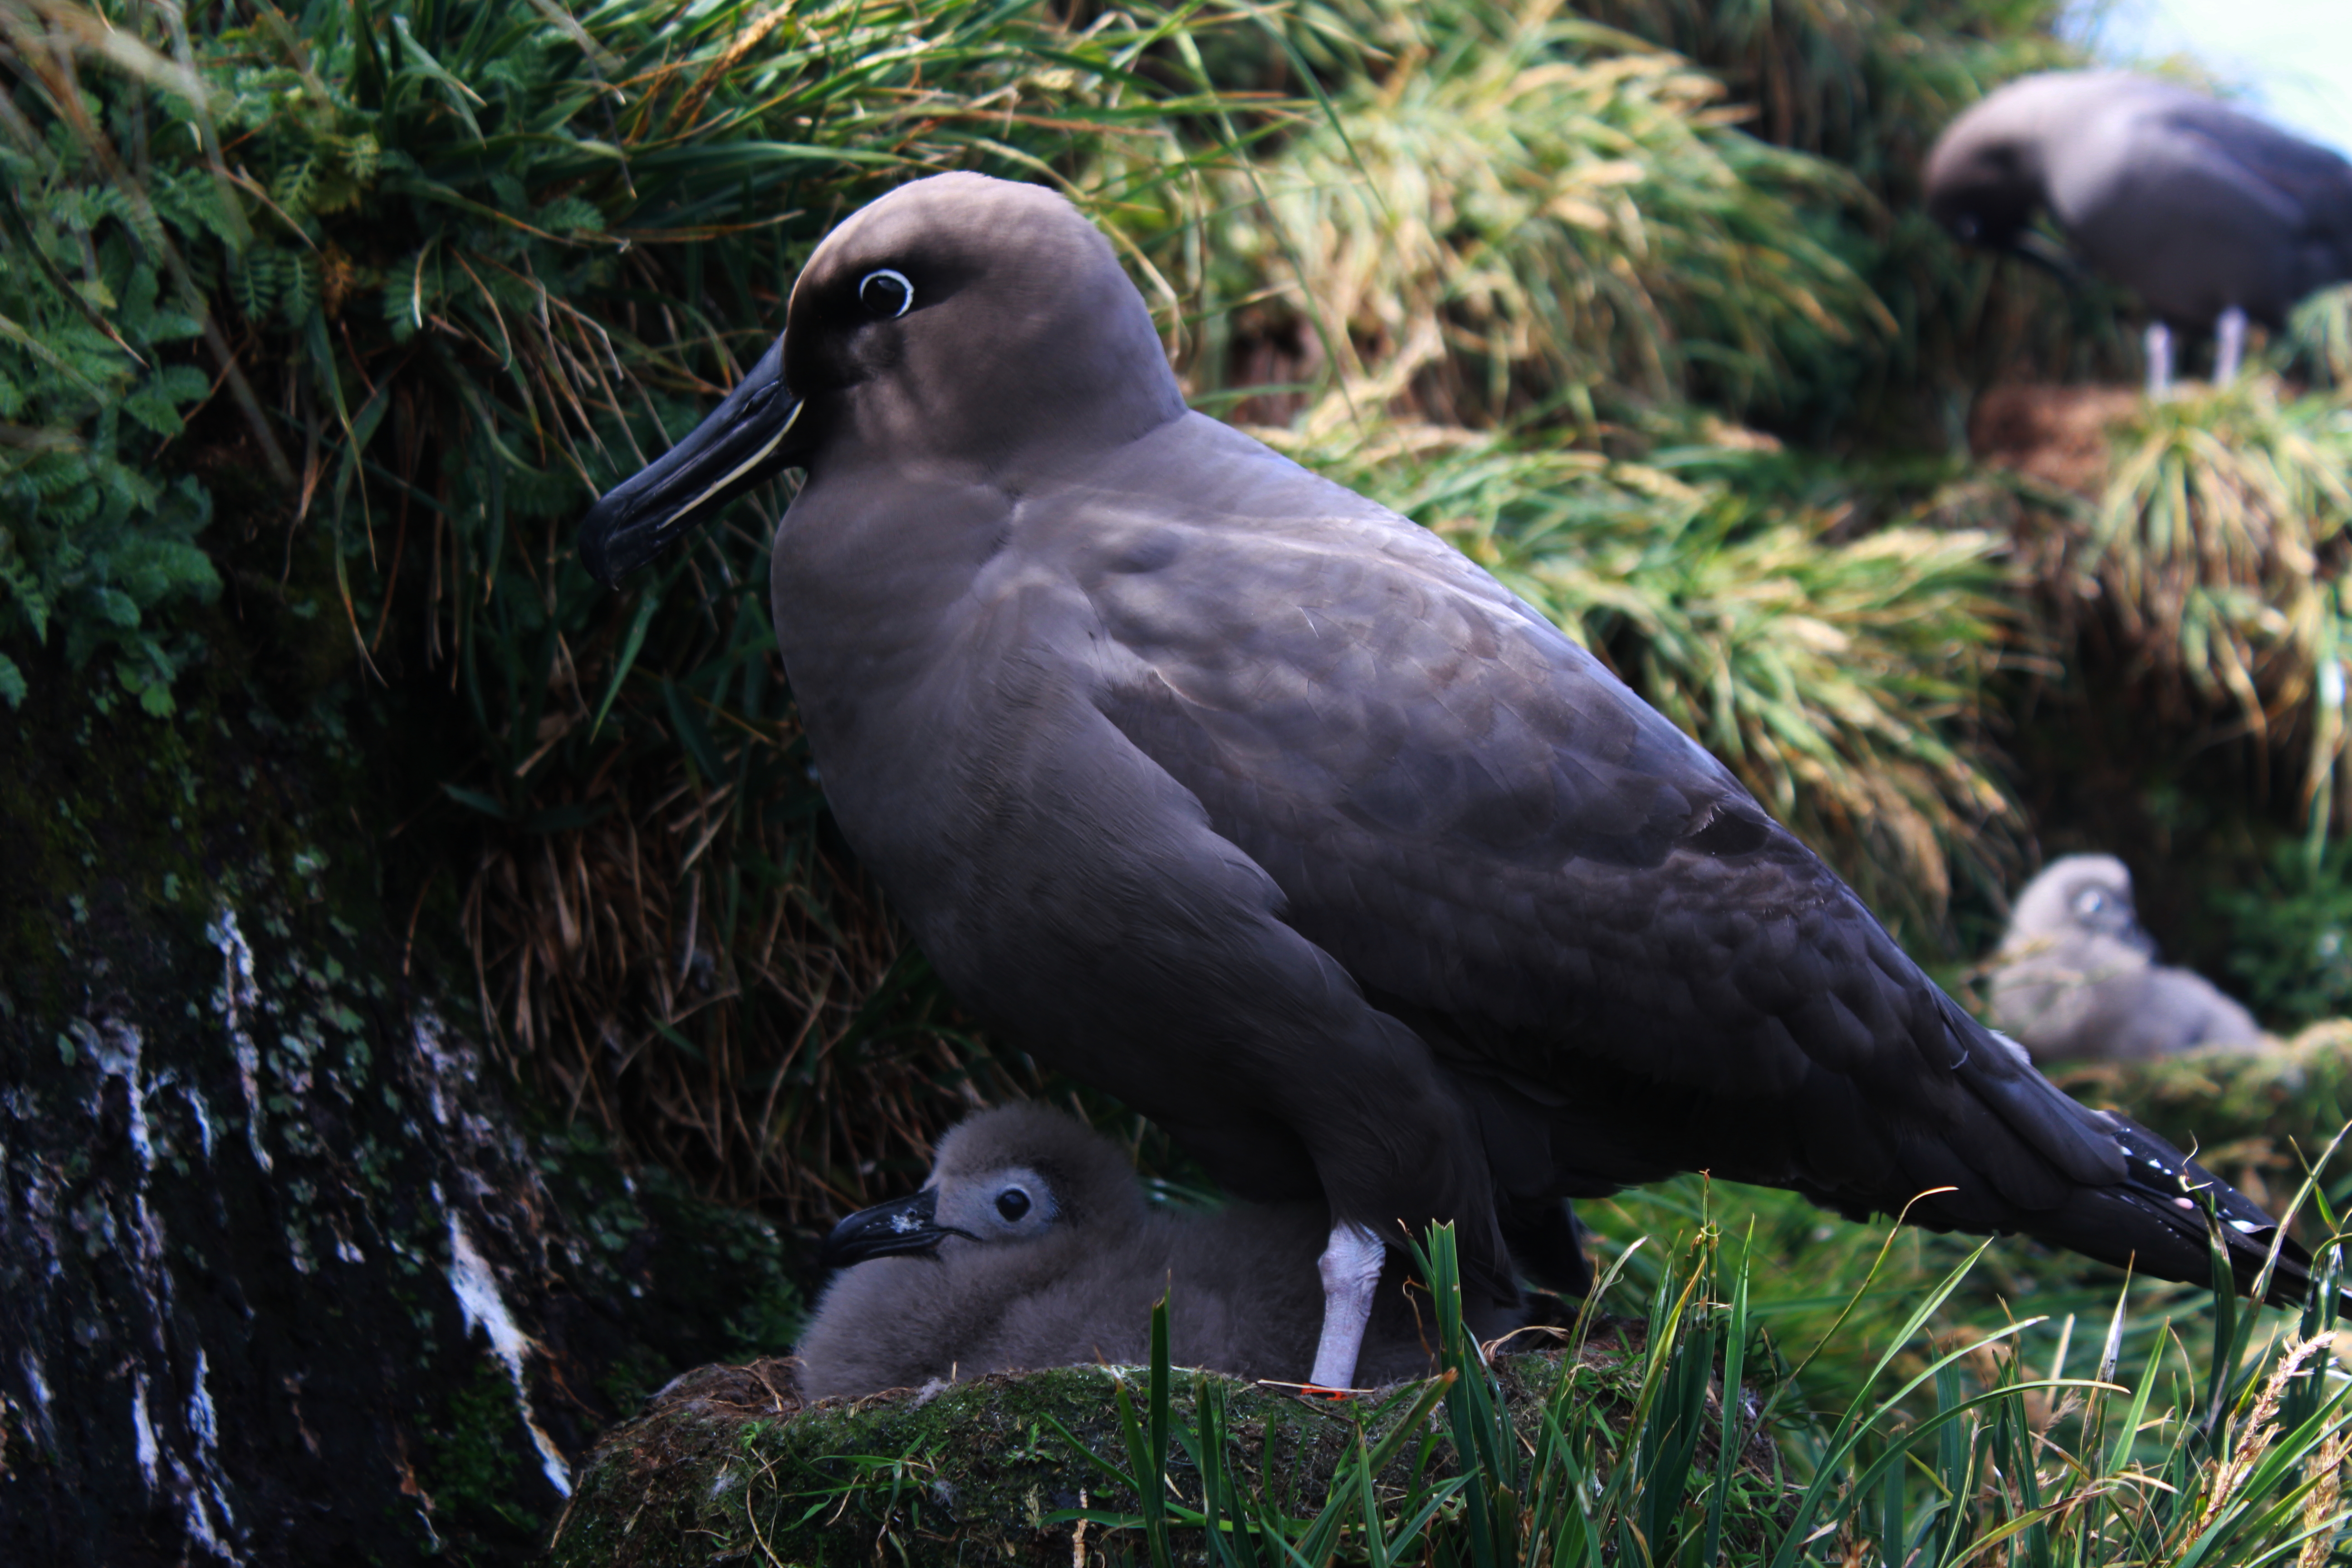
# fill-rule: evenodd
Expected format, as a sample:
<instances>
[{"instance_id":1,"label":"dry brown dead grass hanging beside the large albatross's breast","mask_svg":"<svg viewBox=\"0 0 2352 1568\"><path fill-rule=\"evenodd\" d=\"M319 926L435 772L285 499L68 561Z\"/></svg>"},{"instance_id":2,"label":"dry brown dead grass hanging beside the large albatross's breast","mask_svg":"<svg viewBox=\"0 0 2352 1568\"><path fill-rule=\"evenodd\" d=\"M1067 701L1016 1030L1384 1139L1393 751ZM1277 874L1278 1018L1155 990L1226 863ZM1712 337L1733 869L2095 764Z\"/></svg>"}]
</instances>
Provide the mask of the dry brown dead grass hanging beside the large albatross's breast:
<instances>
[{"instance_id":1,"label":"dry brown dead grass hanging beside the large albatross's breast","mask_svg":"<svg viewBox=\"0 0 2352 1568\"><path fill-rule=\"evenodd\" d=\"M797 726L736 736L729 769ZM929 985L804 780L731 809L644 762L590 783L586 827L485 835L463 903L482 1011L569 1114L809 1225L906 1190L964 1107L1051 1091Z\"/></svg>"}]
</instances>

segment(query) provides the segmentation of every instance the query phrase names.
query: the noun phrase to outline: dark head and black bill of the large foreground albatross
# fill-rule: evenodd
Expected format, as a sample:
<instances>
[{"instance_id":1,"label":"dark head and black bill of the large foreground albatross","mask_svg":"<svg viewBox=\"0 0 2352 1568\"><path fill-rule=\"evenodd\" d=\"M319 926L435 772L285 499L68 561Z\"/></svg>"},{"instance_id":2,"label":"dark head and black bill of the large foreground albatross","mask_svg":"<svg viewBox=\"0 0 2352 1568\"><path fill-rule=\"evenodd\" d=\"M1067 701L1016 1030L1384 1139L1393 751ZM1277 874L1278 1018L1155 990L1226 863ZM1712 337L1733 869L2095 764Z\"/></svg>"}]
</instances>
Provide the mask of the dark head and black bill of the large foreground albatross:
<instances>
[{"instance_id":1,"label":"dark head and black bill of the large foreground albatross","mask_svg":"<svg viewBox=\"0 0 2352 1568\"><path fill-rule=\"evenodd\" d=\"M786 468L1000 473L1183 416L1110 242L1040 186L938 174L835 228L729 397L581 522L612 585Z\"/></svg>"}]
</instances>

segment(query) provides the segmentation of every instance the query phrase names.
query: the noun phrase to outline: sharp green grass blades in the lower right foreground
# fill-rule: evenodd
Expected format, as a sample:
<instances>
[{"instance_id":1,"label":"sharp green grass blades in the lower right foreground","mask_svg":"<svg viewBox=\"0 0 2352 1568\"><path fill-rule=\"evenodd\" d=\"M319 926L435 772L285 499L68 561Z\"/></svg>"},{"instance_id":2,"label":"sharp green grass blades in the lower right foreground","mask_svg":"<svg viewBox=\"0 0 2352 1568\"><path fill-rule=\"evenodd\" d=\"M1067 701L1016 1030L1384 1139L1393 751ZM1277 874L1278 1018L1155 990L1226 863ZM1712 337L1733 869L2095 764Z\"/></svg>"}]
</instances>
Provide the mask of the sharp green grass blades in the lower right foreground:
<instances>
[{"instance_id":1,"label":"sharp green grass blades in the lower right foreground","mask_svg":"<svg viewBox=\"0 0 2352 1568\"><path fill-rule=\"evenodd\" d=\"M1498 1347L1463 1333L1451 1234L1432 1232L1444 1375L1357 1413L1355 1460L1308 1516L1235 1462L1214 1399L1197 1420L1176 1415L1162 1307L1141 1401L1117 1389L1124 1465L1094 1455L1138 1507L1068 1516L1131 1530L1129 1561L1155 1568L2333 1561L2352 1521L2352 1382L2333 1363L2328 1307L2258 1331L2216 1293L2201 1363L2164 1326L2133 1354L2129 1295L2079 1335L2074 1319L2056 1326L2056 1345L2030 1340L2051 1328L2039 1314L1938 1335L1983 1251L1910 1281L1884 1333L1839 1316L1828 1342L1865 1371L1842 1413L1813 1418L1792 1394L1816 1356L1788 1366L1795 1340L1766 1328L1752 1255L1736 1262L1703 1225L1632 1293L1644 1309L1630 1387L1595 1399L1585 1345L1604 1331L1585 1312L1529 1410L1503 1396ZM1759 1432L1783 1465L1755 1465Z\"/></svg>"}]
</instances>

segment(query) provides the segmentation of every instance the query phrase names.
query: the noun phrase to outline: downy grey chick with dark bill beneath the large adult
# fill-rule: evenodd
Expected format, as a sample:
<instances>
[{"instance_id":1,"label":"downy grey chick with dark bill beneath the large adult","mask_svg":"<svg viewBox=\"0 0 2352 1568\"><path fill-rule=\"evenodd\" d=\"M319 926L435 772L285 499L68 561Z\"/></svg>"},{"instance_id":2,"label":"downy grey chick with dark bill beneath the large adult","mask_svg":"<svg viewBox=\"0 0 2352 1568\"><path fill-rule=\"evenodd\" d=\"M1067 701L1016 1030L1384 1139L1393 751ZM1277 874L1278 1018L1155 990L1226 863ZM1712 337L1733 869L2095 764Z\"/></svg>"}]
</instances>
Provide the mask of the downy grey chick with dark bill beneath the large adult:
<instances>
[{"instance_id":1,"label":"downy grey chick with dark bill beneath the large adult","mask_svg":"<svg viewBox=\"0 0 2352 1568\"><path fill-rule=\"evenodd\" d=\"M828 1237L826 1258L842 1272L795 1347L800 1392L1136 1366L1162 1295L1176 1366L1305 1382L1322 1324L1315 1255L1329 1225L1319 1204L1155 1211L1101 1133L1040 1105L981 1112L938 1140L922 1192L861 1208ZM1435 1319L1421 1307L1390 1269L1357 1356L1359 1385L1430 1373ZM1489 1307L1468 1324L1491 1340L1519 1314Z\"/></svg>"}]
</instances>

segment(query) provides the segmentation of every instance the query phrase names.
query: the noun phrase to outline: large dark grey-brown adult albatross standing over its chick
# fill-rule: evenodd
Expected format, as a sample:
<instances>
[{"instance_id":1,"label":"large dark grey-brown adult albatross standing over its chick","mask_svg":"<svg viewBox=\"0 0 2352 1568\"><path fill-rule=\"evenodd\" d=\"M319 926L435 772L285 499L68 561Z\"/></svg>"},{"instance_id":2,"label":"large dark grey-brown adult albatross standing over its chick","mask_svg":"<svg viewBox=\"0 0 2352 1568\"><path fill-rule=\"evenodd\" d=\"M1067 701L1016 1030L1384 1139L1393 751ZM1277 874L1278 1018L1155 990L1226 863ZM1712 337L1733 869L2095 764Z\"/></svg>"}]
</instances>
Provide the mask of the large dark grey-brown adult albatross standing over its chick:
<instances>
[{"instance_id":1,"label":"large dark grey-brown adult albatross standing over its chick","mask_svg":"<svg viewBox=\"0 0 2352 1568\"><path fill-rule=\"evenodd\" d=\"M2187 1178L2263 1265L2260 1208L2042 1079L1559 628L1188 411L1063 197L851 214L581 557L616 581L790 465L776 637L842 835L1021 1046L1329 1204L1315 1382L1383 1244L1454 1220L1510 1305L1581 1265L1559 1199L1677 1171L2201 1281Z\"/></svg>"}]
</instances>

